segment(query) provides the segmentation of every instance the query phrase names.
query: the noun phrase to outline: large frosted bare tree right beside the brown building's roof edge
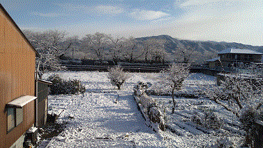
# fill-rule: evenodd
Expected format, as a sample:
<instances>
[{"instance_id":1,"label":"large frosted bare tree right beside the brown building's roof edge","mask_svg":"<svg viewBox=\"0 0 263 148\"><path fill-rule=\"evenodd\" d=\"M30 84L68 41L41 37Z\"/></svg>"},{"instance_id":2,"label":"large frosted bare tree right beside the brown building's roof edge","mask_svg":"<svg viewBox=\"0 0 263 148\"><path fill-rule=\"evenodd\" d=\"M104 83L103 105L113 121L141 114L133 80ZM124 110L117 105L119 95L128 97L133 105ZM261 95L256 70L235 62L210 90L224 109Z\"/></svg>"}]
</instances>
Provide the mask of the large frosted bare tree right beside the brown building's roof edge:
<instances>
[{"instance_id":1,"label":"large frosted bare tree right beside the brown building's roof edge","mask_svg":"<svg viewBox=\"0 0 263 148\"><path fill-rule=\"evenodd\" d=\"M41 55L40 64L43 71L56 71L63 68L59 57L64 54L64 50L71 46L71 44L62 44L65 40L65 32L48 30L40 33L24 30L24 34Z\"/></svg>"}]
</instances>

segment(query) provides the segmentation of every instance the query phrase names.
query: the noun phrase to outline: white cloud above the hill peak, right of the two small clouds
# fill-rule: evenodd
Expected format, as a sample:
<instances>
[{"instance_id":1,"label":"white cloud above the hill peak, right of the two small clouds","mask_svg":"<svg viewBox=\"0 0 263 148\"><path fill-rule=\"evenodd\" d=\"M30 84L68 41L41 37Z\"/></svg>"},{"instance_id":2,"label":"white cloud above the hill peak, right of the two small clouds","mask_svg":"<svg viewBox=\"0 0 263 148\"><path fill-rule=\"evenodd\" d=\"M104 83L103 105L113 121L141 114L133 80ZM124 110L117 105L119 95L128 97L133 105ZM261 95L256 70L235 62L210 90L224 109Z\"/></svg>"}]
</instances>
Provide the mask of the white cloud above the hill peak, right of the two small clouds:
<instances>
[{"instance_id":1,"label":"white cloud above the hill peak, right of the two small clouds","mask_svg":"<svg viewBox=\"0 0 263 148\"><path fill-rule=\"evenodd\" d=\"M134 19L137 20L153 20L153 19L165 17L167 15L169 14L161 11L139 10L139 9L136 9L129 13L130 17L133 17Z\"/></svg>"}]
</instances>

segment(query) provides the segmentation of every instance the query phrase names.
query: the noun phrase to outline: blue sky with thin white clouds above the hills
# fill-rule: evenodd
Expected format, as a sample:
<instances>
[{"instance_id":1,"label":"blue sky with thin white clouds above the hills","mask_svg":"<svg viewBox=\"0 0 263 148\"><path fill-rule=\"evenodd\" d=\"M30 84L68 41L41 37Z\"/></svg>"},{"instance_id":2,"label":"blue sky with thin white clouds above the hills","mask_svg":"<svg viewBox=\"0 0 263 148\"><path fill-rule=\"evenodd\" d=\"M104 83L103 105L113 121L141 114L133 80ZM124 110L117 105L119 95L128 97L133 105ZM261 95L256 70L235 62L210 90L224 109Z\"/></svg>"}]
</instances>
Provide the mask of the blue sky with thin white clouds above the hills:
<instances>
[{"instance_id":1,"label":"blue sky with thin white clouds above the hills","mask_svg":"<svg viewBox=\"0 0 263 148\"><path fill-rule=\"evenodd\" d=\"M263 45L261 0L0 0L21 29Z\"/></svg>"}]
</instances>

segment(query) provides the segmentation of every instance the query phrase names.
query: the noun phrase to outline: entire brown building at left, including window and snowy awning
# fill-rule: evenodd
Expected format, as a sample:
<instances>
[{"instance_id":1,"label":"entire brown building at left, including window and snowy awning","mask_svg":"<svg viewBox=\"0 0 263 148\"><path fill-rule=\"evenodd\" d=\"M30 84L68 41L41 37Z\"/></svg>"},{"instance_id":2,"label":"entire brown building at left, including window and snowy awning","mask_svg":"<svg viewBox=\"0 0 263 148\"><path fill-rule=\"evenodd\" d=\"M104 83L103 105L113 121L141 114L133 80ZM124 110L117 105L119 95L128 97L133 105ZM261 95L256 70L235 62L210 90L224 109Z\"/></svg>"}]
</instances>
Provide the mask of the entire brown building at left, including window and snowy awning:
<instances>
[{"instance_id":1,"label":"entire brown building at left, including window and snowy awning","mask_svg":"<svg viewBox=\"0 0 263 148\"><path fill-rule=\"evenodd\" d=\"M0 147L21 147L35 123L37 51L0 4Z\"/></svg>"}]
</instances>

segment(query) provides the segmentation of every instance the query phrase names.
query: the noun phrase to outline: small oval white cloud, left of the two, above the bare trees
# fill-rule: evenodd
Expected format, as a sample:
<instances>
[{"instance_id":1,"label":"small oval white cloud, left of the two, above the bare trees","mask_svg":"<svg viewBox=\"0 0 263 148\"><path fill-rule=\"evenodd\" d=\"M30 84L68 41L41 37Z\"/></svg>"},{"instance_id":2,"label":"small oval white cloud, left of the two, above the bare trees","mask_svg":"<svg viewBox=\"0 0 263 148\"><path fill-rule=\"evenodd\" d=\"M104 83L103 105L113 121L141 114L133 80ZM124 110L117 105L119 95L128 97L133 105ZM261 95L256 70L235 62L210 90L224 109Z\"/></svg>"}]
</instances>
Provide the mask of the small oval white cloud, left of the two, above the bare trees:
<instances>
[{"instance_id":1,"label":"small oval white cloud, left of the two, above the bare trees","mask_svg":"<svg viewBox=\"0 0 263 148\"><path fill-rule=\"evenodd\" d=\"M96 6L92 11L102 15L118 15L124 12L123 8L118 6Z\"/></svg>"}]
</instances>

